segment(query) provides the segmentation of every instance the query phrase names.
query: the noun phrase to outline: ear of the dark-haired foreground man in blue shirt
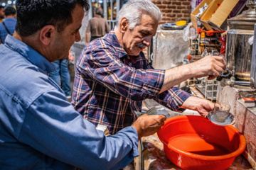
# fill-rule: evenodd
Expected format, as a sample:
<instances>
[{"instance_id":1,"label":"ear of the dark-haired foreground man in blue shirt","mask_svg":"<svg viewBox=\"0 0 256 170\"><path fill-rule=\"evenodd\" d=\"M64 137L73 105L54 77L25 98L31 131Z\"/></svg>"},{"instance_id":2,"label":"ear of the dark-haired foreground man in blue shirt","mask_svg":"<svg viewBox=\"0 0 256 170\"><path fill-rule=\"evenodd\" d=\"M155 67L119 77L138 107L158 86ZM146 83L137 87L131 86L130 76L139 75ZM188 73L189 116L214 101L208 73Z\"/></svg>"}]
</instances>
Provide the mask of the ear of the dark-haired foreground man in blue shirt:
<instances>
[{"instance_id":1,"label":"ear of the dark-haired foreground man in blue shirt","mask_svg":"<svg viewBox=\"0 0 256 170\"><path fill-rule=\"evenodd\" d=\"M49 45L50 40L53 40L53 33L55 32L54 26L44 26L40 32L40 40L44 45Z\"/></svg>"}]
</instances>

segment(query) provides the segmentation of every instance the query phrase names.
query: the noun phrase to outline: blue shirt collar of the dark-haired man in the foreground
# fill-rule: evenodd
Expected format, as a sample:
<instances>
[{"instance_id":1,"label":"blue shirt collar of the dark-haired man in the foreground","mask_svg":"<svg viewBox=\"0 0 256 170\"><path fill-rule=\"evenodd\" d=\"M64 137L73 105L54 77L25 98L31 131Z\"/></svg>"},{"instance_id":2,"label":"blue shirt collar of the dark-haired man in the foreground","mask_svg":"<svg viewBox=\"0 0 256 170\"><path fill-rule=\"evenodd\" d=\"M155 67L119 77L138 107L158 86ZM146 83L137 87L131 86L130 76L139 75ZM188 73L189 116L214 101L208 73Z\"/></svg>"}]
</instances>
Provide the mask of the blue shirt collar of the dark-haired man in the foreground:
<instances>
[{"instance_id":1,"label":"blue shirt collar of the dark-haired man in the foreground","mask_svg":"<svg viewBox=\"0 0 256 170\"><path fill-rule=\"evenodd\" d=\"M26 45L24 42L21 42L20 40L11 37L11 35L7 35L5 45L18 52L32 64L36 65L39 69L41 69L41 72L43 72L44 74L48 74L55 70L54 65L46 60L45 57L40 55L38 52L36 52L36 50L33 50L31 47L28 47L28 45Z\"/></svg>"}]
</instances>

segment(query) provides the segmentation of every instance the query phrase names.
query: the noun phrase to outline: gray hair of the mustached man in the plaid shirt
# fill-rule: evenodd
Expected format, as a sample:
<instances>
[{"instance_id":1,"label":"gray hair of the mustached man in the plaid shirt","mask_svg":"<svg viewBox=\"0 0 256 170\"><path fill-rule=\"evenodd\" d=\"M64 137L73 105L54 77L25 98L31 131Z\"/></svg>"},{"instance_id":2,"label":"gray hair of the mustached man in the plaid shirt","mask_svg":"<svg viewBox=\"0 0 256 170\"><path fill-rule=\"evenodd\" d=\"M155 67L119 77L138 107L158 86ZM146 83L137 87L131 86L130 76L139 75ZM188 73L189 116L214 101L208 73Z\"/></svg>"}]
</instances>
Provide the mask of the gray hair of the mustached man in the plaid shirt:
<instances>
[{"instance_id":1,"label":"gray hair of the mustached man in the plaid shirt","mask_svg":"<svg viewBox=\"0 0 256 170\"><path fill-rule=\"evenodd\" d=\"M151 16L158 23L161 21L162 14L160 9L149 0L129 0L117 13L117 24L115 28L119 28L122 18L127 18L129 29L140 25L143 14Z\"/></svg>"}]
</instances>

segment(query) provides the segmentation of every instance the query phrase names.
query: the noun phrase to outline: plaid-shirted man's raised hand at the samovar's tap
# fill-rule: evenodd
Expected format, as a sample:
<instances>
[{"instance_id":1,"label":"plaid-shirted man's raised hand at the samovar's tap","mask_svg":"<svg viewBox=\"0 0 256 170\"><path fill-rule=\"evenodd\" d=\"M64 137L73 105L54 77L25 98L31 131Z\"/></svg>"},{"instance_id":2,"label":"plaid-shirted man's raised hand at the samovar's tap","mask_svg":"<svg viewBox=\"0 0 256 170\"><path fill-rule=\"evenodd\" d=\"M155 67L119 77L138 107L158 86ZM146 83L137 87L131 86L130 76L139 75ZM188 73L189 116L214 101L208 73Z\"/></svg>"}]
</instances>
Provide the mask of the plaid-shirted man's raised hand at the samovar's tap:
<instances>
[{"instance_id":1,"label":"plaid-shirted man's raised hand at the samovar's tap","mask_svg":"<svg viewBox=\"0 0 256 170\"><path fill-rule=\"evenodd\" d=\"M218 75L226 69L226 62L221 56L206 56L197 62L189 65L193 77L206 77L208 80L215 79Z\"/></svg>"}]
</instances>

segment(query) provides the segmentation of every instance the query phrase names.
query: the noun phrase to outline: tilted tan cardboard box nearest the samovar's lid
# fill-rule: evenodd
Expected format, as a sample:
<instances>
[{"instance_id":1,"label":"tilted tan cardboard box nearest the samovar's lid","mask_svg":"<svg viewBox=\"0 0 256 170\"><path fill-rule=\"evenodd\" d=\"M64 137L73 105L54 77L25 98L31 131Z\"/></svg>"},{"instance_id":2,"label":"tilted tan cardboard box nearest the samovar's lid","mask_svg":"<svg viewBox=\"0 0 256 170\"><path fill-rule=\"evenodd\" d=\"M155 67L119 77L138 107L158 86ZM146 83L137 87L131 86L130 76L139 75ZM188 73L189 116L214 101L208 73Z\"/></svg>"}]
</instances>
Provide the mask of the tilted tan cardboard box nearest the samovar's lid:
<instances>
[{"instance_id":1,"label":"tilted tan cardboard box nearest the samovar's lid","mask_svg":"<svg viewBox=\"0 0 256 170\"><path fill-rule=\"evenodd\" d=\"M246 0L215 0L201 15L201 23L207 30L226 30L227 18L238 15L245 3Z\"/></svg>"}]
</instances>

